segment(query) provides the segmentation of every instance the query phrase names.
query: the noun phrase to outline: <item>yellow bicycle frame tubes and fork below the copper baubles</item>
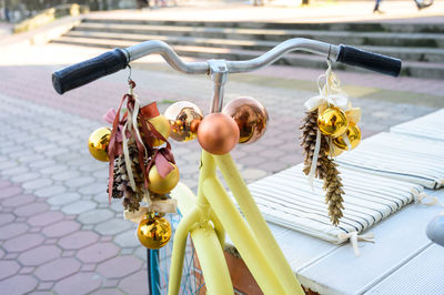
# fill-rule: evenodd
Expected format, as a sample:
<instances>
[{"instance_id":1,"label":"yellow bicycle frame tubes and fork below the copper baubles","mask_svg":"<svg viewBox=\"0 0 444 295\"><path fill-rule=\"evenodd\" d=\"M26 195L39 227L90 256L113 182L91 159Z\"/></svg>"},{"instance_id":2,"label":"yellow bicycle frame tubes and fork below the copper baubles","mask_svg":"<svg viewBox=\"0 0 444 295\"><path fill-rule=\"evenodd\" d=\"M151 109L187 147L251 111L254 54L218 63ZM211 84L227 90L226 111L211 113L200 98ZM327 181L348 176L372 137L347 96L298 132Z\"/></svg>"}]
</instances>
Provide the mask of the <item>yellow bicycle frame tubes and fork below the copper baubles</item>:
<instances>
[{"instance_id":1,"label":"yellow bicycle frame tubes and fork below the copper baubles","mask_svg":"<svg viewBox=\"0 0 444 295\"><path fill-rule=\"evenodd\" d=\"M179 294L191 234L209 294L233 294L223 256L225 230L264 294L304 294L230 154L202 151L198 196L183 184L171 193L183 214L173 244L169 294ZM216 177L222 172L242 214Z\"/></svg>"}]
</instances>

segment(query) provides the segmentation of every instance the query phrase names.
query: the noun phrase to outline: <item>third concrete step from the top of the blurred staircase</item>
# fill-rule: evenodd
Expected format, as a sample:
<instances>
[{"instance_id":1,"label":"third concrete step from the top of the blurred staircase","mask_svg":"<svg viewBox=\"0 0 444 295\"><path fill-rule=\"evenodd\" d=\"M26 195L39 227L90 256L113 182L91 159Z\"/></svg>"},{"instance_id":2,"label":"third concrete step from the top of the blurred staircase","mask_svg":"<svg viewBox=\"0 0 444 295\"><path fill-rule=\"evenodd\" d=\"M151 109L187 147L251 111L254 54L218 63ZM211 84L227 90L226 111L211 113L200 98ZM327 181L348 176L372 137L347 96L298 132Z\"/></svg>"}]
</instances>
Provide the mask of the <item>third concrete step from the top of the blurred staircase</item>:
<instances>
[{"instance_id":1,"label":"third concrete step from the top of the blurred staircase","mask_svg":"<svg viewBox=\"0 0 444 295\"><path fill-rule=\"evenodd\" d=\"M169 44L219 47L228 49L244 49L244 50L255 50L255 51L268 51L280 43L279 41L262 41L262 40L214 39L214 38L194 38L194 37L180 37L180 35L95 32L95 31L71 31L68 34L65 34L65 37L124 40L124 41L138 41L138 42L155 39L165 41ZM370 50L372 52L396 57L402 60L422 61L422 62L424 61L444 62L444 49L369 47L369 45L357 45L357 47L365 50Z\"/></svg>"}]
</instances>

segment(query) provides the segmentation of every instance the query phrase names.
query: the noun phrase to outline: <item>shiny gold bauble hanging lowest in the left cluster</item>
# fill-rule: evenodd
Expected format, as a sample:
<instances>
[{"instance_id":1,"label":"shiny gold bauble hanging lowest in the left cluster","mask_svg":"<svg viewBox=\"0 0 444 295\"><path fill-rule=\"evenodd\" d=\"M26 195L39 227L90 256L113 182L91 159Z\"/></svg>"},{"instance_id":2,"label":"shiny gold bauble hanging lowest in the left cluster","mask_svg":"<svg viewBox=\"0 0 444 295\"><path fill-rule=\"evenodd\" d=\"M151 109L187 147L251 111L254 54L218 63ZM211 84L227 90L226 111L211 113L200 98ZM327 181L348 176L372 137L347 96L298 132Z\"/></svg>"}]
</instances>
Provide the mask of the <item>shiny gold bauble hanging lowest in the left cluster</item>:
<instances>
[{"instance_id":1,"label":"shiny gold bauble hanging lowest in the left cluster","mask_svg":"<svg viewBox=\"0 0 444 295\"><path fill-rule=\"evenodd\" d=\"M140 221L137 234L143 246L161 248L171 238L171 225L164 217L147 215Z\"/></svg>"}]
</instances>

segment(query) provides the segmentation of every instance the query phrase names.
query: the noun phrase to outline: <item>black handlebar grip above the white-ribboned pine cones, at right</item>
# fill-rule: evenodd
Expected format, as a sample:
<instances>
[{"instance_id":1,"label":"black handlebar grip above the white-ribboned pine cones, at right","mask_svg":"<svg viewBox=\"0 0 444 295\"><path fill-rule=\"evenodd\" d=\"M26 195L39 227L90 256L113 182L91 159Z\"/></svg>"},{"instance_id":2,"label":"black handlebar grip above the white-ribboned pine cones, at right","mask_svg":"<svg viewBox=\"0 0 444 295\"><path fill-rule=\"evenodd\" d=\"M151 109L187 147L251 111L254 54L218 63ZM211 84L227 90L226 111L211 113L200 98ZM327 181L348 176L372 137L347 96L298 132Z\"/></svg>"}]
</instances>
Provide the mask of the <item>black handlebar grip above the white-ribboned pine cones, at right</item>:
<instances>
[{"instance_id":1,"label":"black handlebar grip above the white-ribboned pine cones, at right","mask_svg":"<svg viewBox=\"0 0 444 295\"><path fill-rule=\"evenodd\" d=\"M400 74L402 63L400 59L343 44L340 45L337 61L393 77Z\"/></svg>"}]
</instances>

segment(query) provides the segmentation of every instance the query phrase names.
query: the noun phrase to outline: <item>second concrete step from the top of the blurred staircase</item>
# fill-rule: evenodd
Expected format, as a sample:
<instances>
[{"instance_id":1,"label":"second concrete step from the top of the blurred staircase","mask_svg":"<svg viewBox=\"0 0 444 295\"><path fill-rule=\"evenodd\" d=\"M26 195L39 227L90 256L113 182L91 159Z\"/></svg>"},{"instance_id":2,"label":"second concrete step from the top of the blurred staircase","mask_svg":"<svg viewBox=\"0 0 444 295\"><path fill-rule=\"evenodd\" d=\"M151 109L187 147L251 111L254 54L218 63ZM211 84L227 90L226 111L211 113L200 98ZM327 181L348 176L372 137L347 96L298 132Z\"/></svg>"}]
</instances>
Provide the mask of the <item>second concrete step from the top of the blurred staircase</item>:
<instances>
[{"instance_id":1,"label":"second concrete step from the top of the blurred staircase","mask_svg":"<svg viewBox=\"0 0 444 295\"><path fill-rule=\"evenodd\" d=\"M186 27L158 24L129 24L83 22L74 28L79 32L112 32L120 34L183 35L195 38L261 40L282 42L290 38L309 38L329 43L379 47L444 48L444 34L402 32L355 32L295 29L245 29L223 27Z\"/></svg>"}]
</instances>

